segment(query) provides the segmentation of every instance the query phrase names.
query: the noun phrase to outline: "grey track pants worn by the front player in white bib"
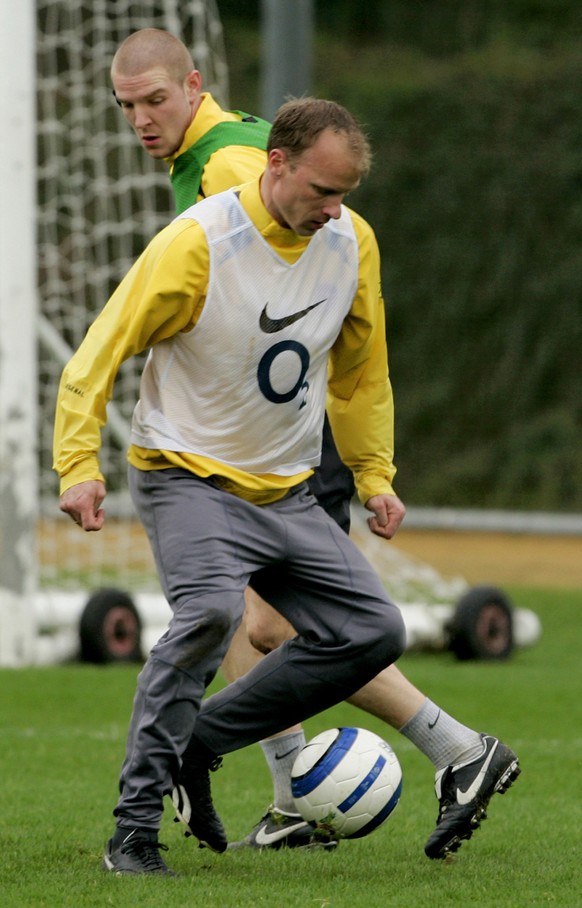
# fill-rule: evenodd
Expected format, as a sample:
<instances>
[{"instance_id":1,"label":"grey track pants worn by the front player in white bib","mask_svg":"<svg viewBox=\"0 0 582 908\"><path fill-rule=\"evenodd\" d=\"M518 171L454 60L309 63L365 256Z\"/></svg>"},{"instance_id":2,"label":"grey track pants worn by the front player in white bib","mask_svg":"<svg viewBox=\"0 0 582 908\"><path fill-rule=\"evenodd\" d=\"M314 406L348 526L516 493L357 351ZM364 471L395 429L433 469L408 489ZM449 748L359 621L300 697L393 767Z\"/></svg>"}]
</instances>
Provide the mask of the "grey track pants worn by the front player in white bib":
<instances>
[{"instance_id":1,"label":"grey track pants worn by the front player in white bib","mask_svg":"<svg viewBox=\"0 0 582 908\"><path fill-rule=\"evenodd\" d=\"M139 676L114 811L158 828L196 736L229 753L348 697L404 649L376 573L302 484L258 507L186 470L130 467L130 490L173 612ZM297 637L204 701L251 585Z\"/></svg>"}]
</instances>

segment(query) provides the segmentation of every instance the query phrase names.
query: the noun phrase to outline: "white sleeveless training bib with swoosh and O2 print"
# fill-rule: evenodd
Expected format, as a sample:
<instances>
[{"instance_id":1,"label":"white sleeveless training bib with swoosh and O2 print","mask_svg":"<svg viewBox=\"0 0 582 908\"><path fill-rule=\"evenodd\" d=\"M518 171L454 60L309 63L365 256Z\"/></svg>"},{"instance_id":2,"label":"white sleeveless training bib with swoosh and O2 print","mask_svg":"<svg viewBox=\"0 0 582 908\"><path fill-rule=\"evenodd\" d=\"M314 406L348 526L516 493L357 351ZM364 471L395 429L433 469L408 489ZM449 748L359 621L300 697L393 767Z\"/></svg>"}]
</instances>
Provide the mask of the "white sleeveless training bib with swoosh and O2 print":
<instances>
[{"instance_id":1,"label":"white sleeveless training bib with swoosh and O2 print","mask_svg":"<svg viewBox=\"0 0 582 908\"><path fill-rule=\"evenodd\" d=\"M319 463L327 357L352 305L358 244L348 211L290 265L234 191L181 218L210 252L200 319L152 348L132 441L190 452L249 473L294 475Z\"/></svg>"}]
</instances>

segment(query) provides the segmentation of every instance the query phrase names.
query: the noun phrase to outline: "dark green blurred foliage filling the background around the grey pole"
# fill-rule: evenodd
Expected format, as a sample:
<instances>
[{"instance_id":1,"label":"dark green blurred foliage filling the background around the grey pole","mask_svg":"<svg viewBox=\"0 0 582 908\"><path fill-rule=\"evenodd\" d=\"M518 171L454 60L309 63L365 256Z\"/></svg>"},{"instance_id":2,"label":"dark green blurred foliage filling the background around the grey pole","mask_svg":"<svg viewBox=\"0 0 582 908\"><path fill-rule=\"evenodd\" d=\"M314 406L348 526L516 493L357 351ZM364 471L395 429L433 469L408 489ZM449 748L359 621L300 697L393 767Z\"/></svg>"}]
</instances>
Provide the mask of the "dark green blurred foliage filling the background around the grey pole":
<instances>
[{"instance_id":1,"label":"dark green blurred foliage filling the background around the grey pole","mask_svg":"<svg viewBox=\"0 0 582 908\"><path fill-rule=\"evenodd\" d=\"M259 2L219 0L257 109ZM582 510L582 8L317 0L313 93L365 124L399 494ZM254 106L253 106L254 105Z\"/></svg>"}]
</instances>

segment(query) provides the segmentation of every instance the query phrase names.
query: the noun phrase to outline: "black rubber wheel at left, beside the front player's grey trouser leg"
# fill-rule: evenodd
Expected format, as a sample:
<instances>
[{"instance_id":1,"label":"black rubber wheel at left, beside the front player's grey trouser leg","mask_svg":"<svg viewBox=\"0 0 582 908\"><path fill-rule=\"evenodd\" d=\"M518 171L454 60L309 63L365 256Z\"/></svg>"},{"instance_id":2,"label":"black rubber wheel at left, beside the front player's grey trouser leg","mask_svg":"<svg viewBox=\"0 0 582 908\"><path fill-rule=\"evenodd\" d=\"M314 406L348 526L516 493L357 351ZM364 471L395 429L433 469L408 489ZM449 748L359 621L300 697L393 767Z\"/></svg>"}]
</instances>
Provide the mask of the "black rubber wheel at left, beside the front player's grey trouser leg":
<instances>
[{"instance_id":1,"label":"black rubber wheel at left, beside the front player's grey trouser leg","mask_svg":"<svg viewBox=\"0 0 582 908\"><path fill-rule=\"evenodd\" d=\"M103 589L88 599L79 626L81 660L142 662L141 620L131 596Z\"/></svg>"}]
</instances>

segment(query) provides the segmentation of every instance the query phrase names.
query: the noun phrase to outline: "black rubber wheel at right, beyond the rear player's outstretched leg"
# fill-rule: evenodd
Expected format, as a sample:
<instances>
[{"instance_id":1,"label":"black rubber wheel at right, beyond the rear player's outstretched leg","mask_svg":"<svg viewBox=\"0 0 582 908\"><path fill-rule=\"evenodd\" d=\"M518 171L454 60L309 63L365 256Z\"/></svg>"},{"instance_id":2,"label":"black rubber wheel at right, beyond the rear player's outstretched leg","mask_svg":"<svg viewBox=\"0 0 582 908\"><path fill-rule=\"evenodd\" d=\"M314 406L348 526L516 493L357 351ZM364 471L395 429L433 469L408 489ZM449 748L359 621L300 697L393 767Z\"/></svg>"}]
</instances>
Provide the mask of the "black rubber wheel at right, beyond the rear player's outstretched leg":
<instances>
[{"instance_id":1,"label":"black rubber wheel at right, beyond the rear player's outstretched leg","mask_svg":"<svg viewBox=\"0 0 582 908\"><path fill-rule=\"evenodd\" d=\"M459 599L449 633L457 659L507 659L513 651L509 599L495 587L473 587Z\"/></svg>"}]
</instances>

